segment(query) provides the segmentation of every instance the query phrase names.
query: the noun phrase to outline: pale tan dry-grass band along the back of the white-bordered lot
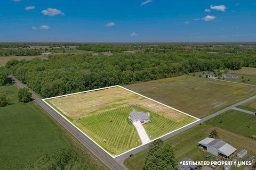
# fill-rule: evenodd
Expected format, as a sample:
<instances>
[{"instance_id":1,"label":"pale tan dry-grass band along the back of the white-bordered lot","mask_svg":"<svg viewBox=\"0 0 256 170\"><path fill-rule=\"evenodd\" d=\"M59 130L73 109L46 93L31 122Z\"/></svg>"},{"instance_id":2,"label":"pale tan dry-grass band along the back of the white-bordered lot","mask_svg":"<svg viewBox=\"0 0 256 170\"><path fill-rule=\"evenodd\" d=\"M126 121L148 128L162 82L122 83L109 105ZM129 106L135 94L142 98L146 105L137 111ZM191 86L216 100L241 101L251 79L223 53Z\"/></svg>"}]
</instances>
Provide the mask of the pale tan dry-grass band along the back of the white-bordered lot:
<instances>
[{"instance_id":1,"label":"pale tan dry-grass band along the back of the white-bordered lot","mask_svg":"<svg viewBox=\"0 0 256 170\"><path fill-rule=\"evenodd\" d=\"M73 120L85 116L97 115L98 113L107 112L120 107L131 106L133 103L173 121L187 117L171 108L159 105L154 101L119 87L54 98L51 99L50 102L63 114Z\"/></svg>"}]
</instances>

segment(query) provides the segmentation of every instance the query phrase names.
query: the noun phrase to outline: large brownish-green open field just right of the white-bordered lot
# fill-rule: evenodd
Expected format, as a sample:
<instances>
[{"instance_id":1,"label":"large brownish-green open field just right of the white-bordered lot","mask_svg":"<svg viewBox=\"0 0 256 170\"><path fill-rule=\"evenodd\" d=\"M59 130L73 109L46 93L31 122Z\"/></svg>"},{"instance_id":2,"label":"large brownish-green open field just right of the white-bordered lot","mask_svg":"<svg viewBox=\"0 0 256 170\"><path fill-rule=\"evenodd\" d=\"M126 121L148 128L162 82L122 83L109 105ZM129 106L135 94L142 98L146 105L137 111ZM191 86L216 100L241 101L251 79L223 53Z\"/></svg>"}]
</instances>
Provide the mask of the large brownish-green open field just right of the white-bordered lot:
<instances>
[{"instance_id":1,"label":"large brownish-green open field just right of the white-bordered lot","mask_svg":"<svg viewBox=\"0 0 256 170\"><path fill-rule=\"evenodd\" d=\"M125 88L199 118L256 95L256 87L187 75Z\"/></svg>"}]
</instances>

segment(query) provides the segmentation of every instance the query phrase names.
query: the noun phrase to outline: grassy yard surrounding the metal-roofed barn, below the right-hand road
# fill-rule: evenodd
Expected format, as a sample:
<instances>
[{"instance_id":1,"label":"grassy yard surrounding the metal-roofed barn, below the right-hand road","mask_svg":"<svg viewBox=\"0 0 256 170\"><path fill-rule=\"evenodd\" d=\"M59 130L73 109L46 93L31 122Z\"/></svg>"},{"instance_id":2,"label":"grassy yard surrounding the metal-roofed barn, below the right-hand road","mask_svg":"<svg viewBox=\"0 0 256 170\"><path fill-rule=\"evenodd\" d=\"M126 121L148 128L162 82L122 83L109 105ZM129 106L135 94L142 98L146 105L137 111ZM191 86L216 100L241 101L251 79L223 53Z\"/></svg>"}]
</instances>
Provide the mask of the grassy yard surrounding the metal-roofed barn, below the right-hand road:
<instances>
[{"instance_id":1,"label":"grassy yard surrounding the metal-roofed barn, below the right-hand road","mask_svg":"<svg viewBox=\"0 0 256 170\"><path fill-rule=\"evenodd\" d=\"M234 116L234 118L228 121L230 116ZM194 161L202 161L205 160L204 157L209 155L209 153L198 149L198 142L208 137L210 132L215 129L218 131L220 139L228 142L231 146L237 149L236 153L242 149L247 149L247 156L256 156L256 140L247 138L245 137L246 134L244 134L245 130L250 131L250 134L256 133L255 128L252 128L255 127L255 121L250 129L246 129L248 121L251 119L255 120L255 116L246 115L245 113L237 111L228 111L223 113L221 117L222 123L219 122L220 117L217 117L216 119L212 118L211 120L206 121L201 125L197 125L185 132L179 133L174 137L165 140L164 142L170 144L173 147L175 157L178 161L186 157L189 157ZM237 119L237 121L234 121L235 119ZM129 169L142 169L147 152L148 149L143 150L130 158L127 158L124 162L124 165ZM231 159L234 159L234 157L230 158L230 160ZM214 159L211 158L210 161L214 161ZM221 168L222 167L219 167L218 169ZM232 167L232 169L242 170L244 169L244 166L239 168Z\"/></svg>"}]
</instances>

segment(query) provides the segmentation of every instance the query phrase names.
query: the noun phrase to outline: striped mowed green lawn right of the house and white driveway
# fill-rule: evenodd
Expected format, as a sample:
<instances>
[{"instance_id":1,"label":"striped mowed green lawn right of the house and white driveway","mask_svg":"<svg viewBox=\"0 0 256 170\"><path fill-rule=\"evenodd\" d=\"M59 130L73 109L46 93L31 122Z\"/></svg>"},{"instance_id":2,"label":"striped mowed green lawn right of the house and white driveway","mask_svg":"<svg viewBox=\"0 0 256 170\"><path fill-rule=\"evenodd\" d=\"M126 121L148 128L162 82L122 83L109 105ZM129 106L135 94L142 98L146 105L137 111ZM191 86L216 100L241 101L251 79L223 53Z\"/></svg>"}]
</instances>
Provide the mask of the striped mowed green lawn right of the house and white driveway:
<instances>
[{"instance_id":1,"label":"striped mowed green lawn right of the house and white driveway","mask_svg":"<svg viewBox=\"0 0 256 170\"><path fill-rule=\"evenodd\" d=\"M143 124L151 140L196 121L192 117L184 117L180 121L172 121L155 113L150 113L150 123Z\"/></svg>"}]
</instances>

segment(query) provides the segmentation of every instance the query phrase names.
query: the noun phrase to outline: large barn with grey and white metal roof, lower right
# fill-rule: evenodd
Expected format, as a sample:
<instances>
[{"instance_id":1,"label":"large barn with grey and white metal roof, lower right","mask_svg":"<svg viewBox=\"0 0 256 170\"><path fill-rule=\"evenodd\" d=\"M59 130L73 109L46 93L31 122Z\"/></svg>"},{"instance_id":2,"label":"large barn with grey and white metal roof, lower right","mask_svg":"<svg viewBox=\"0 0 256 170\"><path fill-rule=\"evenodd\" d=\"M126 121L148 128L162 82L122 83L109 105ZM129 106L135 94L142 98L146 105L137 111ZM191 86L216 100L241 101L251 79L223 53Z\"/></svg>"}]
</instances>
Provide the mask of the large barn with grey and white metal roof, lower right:
<instances>
[{"instance_id":1,"label":"large barn with grey and white metal roof, lower right","mask_svg":"<svg viewBox=\"0 0 256 170\"><path fill-rule=\"evenodd\" d=\"M205 138L202 141L199 141L198 144L199 148L204 149L215 156L229 158L236 151L236 148L220 139Z\"/></svg>"}]
</instances>

